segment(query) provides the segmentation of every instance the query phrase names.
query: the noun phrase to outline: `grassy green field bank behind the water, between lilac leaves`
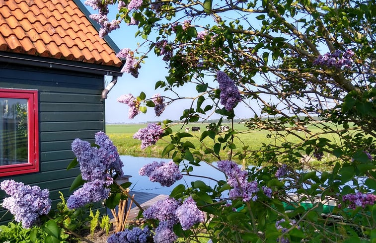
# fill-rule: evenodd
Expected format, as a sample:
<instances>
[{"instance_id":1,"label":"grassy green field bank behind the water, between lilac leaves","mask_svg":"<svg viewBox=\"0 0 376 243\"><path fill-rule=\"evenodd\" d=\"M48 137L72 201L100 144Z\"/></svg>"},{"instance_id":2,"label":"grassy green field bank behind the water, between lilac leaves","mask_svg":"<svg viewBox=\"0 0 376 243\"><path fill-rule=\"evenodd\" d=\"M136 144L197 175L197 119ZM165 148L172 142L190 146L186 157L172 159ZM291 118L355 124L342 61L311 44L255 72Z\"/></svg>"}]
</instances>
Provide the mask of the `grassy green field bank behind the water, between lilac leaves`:
<instances>
[{"instance_id":1,"label":"grassy green field bank behind the water, between lilac leaves","mask_svg":"<svg viewBox=\"0 0 376 243\"><path fill-rule=\"evenodd\" d=\"M330 125L330 124L325 124ZM116 124L116 125L106 125L106 133L114 142L116 147L118 148L120 155L131 155L131 156L142 156L142 157L157 157L161 158L161 153L168 145L167 139L166 140L159 140L156 145L148 147L144 150L140 148L141 141L137 139L133 139L133 135L143 127L146 127L146 124ZM186 127L192 128L192 126L200 126L201 133L205 131L205 124L189 124L188 126L182 127L181 124L172 126L172 131L176 132L184 132ZM315 126L308 127L312 132L318 132L319 129ZM244 126L244 124L234 124L234 130L239 132L237 134L237 138L234 139L233 143L236 145L237 150L241 150L243 146L249 146L250 150L258 150L261 148L262 144L266 145L281 145L283 143L297 143L299 139L296 136L291 134L285 134L285 136L275 138L275 133L269 131L251 131L249 132L248 129ZM214 145L214 141L209 137L205 138L204 145L200 144L199 138L201 136L199 132L192 132L190 129L190 134L193 137L183 138L182 141L190 141L196 149L203 149L204 146L212 147ZM303 138L305 138L304 132L297 132L297 134ZM333 135L325 135L327 139L334 141L337 140L336 137ZM242 142L240 142L242 141ZM222 158L226 158L226 154L221 154Z\"/></svg>"}]
</instances>

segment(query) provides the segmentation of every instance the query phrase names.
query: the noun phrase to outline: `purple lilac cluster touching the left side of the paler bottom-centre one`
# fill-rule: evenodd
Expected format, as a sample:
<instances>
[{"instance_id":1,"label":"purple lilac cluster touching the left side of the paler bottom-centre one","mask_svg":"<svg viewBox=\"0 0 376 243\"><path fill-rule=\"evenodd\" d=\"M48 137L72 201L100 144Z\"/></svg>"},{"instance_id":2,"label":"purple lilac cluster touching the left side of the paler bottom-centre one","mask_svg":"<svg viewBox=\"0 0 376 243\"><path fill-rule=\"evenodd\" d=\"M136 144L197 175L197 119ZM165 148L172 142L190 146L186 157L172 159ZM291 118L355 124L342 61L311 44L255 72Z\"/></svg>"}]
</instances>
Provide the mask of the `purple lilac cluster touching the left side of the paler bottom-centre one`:
<instances>
[{"instance_id":1,"label":"purple lilac cluster touching the left side of the paler bottom-centre one","mask_svg":"<svg viewBox=\"0 0 376 243\"><path fill-rule=\"evenodd\" d=\"M143 213L145 219L157 219L159 221L171 221L177 223L178 219L175 215L176 209L180 206L175 198L166 198L159 200Z\"/></svg>"}]
</instances>

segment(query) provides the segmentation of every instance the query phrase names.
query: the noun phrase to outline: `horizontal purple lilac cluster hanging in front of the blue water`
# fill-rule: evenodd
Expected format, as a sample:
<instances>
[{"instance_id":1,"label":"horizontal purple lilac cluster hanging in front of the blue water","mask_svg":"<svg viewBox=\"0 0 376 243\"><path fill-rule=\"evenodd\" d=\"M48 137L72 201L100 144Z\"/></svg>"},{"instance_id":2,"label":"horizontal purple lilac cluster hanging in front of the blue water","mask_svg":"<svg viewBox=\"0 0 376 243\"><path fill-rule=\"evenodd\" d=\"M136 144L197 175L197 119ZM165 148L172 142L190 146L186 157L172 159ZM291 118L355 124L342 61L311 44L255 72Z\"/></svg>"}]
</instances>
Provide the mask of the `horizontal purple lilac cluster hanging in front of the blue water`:
<instances>
[{"instance_id":1,"label":"horizontal purple lilac cluster hanging in front of the blue water","mask_svg":"<svg viewBox=\"0 0 376 243\"><path fill-rule=\"evenodd\" d=\"M179 166L173 161L168 163L154 161L146 164L141 167L139 174L149 176L150 181L159 182L162 186L171 186L175 181L183 178Z\"/></svg>"}]
</instances>

